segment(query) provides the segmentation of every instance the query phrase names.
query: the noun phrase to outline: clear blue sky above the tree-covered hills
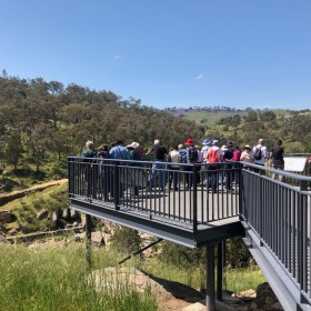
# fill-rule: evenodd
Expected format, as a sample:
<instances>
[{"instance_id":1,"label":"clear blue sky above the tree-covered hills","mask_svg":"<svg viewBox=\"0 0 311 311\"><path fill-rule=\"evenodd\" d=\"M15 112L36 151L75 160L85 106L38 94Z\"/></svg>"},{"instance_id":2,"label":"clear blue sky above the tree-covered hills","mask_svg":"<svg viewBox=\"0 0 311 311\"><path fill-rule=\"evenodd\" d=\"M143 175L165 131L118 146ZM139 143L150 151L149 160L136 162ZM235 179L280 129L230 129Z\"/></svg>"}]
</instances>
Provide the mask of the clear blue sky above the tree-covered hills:
<instances>
[{"instance_id":1,"label":"clear blue sky above the tree-covered hills","mask_svg":"<svg viewBox=\"0 0 311 311\"><path fill-rule=\"evenodd\" d=\"M0 70L159 109L311 109L310 16L310 0L2 0Z\"/></svg>"}]
</instances>

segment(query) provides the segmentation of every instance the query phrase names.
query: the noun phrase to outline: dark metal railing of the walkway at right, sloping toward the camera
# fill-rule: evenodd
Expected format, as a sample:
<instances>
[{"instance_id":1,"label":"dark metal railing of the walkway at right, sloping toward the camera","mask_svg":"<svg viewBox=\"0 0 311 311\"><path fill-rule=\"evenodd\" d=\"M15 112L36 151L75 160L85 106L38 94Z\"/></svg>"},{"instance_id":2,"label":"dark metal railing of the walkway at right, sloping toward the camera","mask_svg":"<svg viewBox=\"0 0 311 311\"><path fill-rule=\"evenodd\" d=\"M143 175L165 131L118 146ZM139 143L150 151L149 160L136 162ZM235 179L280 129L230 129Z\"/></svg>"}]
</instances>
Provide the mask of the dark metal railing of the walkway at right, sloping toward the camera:
<instances>
[{"instance_id":1,"label":"dark metal railing of the walkway at right, sloping toward the camera","mask_svg":"<svg viewBox=\"0 0 311 311\"><path fill-rule=\"evenodd\" d=\"M261 174L242 169L241 217L310 301L311 178L278 171L281 182L269 178L271 172L275 173L268 168Z\"/></svg>"}]
</instances>

